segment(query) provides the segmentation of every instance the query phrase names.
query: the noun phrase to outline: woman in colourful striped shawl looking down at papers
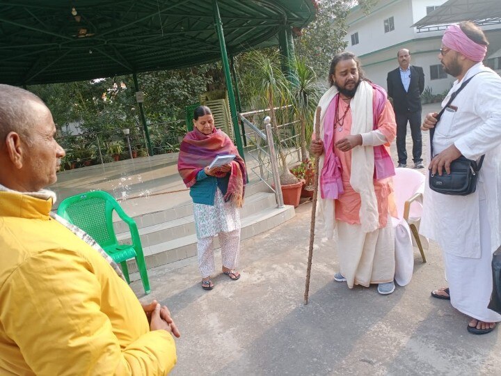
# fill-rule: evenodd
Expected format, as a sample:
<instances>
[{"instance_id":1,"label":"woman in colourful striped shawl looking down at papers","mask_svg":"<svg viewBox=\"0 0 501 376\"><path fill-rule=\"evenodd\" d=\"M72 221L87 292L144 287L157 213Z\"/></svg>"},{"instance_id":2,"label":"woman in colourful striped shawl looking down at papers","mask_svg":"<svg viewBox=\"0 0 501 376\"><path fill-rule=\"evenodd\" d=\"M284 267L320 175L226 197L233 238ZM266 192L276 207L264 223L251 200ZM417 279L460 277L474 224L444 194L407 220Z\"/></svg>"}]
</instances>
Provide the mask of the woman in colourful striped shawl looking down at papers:
<instances>
[{"instance_id":1,"label":"woman in colourful striped shawl looking down at papers","mask_svg":"<svg viewBox=\"0 0 501 376\"><path fill-rule=\"evenodd\" d=\"M235 270L240 246L238 208L244 203L246 166L230 137L214 127L209 107L195 109L193 125L193 131L188 132L181 143L177 170L193 199L202 288L212 290L211 275L216 270L215 235L218 235L221 245L223 273L234 281L240 278ZM229 163L218 165L221 158L214 159L221 155L235 157ZM213 166L209 168L211 164Z\"/></svg>"}]
</instances>

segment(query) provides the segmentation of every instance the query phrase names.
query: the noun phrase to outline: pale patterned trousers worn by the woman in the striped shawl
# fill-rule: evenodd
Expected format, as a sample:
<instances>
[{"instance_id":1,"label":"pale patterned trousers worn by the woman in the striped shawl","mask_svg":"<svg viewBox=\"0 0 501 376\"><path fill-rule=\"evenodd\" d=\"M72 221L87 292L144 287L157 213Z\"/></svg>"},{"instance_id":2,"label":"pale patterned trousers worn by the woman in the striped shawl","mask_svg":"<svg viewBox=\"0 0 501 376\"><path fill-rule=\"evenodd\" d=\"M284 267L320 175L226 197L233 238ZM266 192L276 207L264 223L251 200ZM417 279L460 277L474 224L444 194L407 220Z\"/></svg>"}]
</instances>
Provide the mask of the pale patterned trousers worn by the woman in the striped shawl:
<instances>
[{"instance_id":1,"label":"pale patterned trousers worn by the woman in the striped shawl","mask_svg":"<svg viewBox=\"0 0 501 376\"><path fill-rule=\"evenodd\" d=\"M234 269L238 265L240 254L240 228L229 233L218 233L221 245L223 267ZM214 237L202 237L197 243L198 268L202 278L211 276L216 271L214 265Z\"/></svg>"}]
</instances>

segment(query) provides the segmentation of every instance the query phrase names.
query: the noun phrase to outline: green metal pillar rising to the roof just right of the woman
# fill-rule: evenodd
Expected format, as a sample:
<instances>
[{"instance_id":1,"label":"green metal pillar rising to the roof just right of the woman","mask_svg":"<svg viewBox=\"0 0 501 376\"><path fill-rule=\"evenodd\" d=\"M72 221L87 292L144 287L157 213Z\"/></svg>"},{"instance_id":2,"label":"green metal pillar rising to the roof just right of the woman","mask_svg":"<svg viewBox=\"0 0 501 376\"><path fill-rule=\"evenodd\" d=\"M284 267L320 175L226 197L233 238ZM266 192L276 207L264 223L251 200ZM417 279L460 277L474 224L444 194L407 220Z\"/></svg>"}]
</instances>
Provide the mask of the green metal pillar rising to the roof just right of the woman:
<instances>
[{"instance_id":1,"label":"green metal pillar rising to the roof just right of the woman","mask_svg":"<svg viewBox=\"0 0 501 376\"><path fill-rule=\"evenodd\" d=\"M235 103L233 94L233 85L230 73L230 64L228 63L228 54L226 52L226 44L224 40L223 22L221 21L221 14L219 13L219 6L217 0L212 0L212 8L214 10L214 27L218 35L219 47L221 49L221 63L223 63L223 71L226 80L226 90L228 91L228 100L230 101L230 111L232 116L233 130L235 141L237 142L237 149L240 156L244 157L244 147L242 146L240 125L237 116L237 104Z\"/></svg>"}]
</instances>

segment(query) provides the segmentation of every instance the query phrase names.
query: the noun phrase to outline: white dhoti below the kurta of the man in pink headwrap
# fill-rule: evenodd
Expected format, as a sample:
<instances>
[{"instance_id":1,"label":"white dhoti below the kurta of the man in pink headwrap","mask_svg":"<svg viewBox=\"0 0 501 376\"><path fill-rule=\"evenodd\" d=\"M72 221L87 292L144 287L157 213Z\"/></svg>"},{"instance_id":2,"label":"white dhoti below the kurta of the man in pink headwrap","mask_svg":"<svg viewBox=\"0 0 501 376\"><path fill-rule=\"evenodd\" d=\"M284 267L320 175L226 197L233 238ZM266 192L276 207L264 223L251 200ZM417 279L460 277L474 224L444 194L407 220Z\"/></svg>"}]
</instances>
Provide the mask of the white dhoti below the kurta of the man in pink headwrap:
<instances>
[{"instance_id":1,"label":"white dhoti below the kurta of the man in pink headwrap","mask_svg":"<svg viewBox=\"0 0 501 376\"><path fill-rule=\"evenodd\" d=\"M480 258L459 257L443 252L445 276L449 283L451 304L465 315L484 322L500 322L501 315L487 308L491 299L492 252L491 228L487 201L479 184Z\"/></svg>"}]
</instances>

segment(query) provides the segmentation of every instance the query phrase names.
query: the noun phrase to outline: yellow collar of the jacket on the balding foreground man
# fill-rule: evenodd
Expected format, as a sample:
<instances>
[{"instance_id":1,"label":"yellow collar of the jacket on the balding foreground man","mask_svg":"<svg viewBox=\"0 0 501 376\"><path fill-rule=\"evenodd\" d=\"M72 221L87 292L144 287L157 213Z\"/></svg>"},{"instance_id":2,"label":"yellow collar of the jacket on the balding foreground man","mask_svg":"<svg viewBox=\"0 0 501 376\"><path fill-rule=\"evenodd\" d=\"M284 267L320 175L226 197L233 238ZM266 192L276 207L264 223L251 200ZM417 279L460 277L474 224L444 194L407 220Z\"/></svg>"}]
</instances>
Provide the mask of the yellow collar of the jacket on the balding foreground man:
<instances>
[{"instance_id":1,"label":"yellow collar of the jacket on the balding foreground man","mask_svg":"<svg viewBox=\"0 0 501 376\"><path fill-rule=\"evenodd\" d=\"M0 217L49 219L52 198L35 198L15 191L0 191Z\"/></svg>"}]
</instances>

